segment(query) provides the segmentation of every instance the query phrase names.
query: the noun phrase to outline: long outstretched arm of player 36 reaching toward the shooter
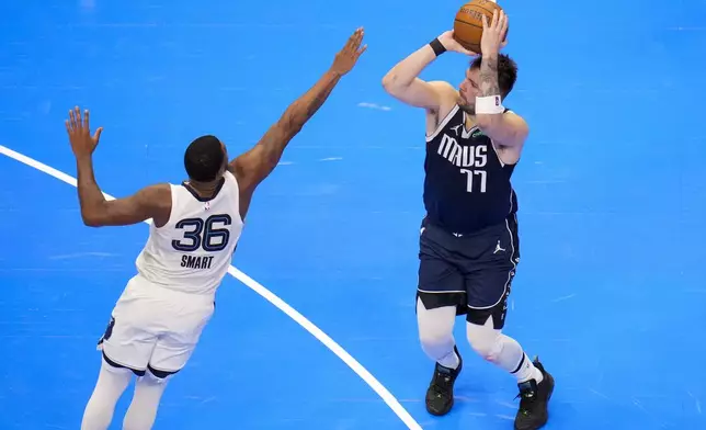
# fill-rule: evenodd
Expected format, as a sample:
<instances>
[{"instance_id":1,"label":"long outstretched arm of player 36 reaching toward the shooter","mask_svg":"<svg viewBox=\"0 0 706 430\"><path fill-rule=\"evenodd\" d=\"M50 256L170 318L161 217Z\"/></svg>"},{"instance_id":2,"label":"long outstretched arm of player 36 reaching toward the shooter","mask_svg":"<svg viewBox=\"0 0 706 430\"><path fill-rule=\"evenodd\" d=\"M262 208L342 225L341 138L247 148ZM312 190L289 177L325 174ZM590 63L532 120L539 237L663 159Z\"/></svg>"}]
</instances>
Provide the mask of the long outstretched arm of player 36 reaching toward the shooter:
<instances>
[{"instance_id":1,"label":"long outstretched arm of player 36 reaching toward the shooter","mask_svg":"<svg viewBox=\"0 0 706 430\"><path fill-rule=\"evenodd\" d=\"M316 84L284 111L252 149L230 162L241 190L251 193L277 166L289 140L321 108L341 77L351 71L365 52L367 46L361 47L363 35L363 29L357 29Z\"/></svg>"}]
</instances>

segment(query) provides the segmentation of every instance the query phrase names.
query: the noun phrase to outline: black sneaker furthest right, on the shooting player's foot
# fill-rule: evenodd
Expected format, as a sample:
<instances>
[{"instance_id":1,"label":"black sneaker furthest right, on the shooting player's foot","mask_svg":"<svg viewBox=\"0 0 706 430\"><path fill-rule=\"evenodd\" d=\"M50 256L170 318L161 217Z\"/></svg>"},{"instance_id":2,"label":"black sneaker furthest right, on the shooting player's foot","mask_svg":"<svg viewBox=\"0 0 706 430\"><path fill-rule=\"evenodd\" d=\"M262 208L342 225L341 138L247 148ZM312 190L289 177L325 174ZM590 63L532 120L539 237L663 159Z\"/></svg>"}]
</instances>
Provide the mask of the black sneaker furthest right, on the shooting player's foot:
<instances>
[{"instance_id":1,"label":"black sneaker furthest right, on the shooting player's foot","mask_svg":"<svg viewBox=\"0 0 706 430\"><path fill-rule=\"evenodd\" d=\"M554 392L554 377L544 370L539 359L533 361L535 367L542 372L544 378L539 384L530 380L517 384L520 387L520 410L515 417L515 430L536 430L547 423L549 412L547 406Z\"/></svg>"}]
</instances>

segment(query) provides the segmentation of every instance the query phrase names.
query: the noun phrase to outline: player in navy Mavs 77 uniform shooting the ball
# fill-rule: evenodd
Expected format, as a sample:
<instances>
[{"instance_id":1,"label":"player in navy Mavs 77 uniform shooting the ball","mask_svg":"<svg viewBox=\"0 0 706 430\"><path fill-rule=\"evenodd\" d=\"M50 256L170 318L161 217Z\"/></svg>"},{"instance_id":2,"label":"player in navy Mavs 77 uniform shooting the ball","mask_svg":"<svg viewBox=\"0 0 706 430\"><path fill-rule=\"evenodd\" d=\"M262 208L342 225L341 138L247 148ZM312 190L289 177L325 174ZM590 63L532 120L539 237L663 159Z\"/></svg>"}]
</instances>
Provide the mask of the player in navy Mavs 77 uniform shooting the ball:
<instances>
[{"instance_id":1,"label":"player in navy Mavs 77 uniform shooting the ball","mask_svg":"<svg viewBox=\"0 0 706 430\"><path fill-rule=\"evenodd\" d=\"M436 362L426 410L447 414L462 358L453 337L456 315L466 314L472 349L517 378L514 427L531 430L548 418L554 378L520 343L502 333L506 301L520 261L517 200L510 183L528 127L503 108L516 66L500 54L508 19L483 21L481 56L466 70L459 90L419 73L439 55L475 56L445 32L397 64L383 79L386 91L426 110L424 206L420 238L417 317L424 352Z\"/></svg>"}]
</instances>

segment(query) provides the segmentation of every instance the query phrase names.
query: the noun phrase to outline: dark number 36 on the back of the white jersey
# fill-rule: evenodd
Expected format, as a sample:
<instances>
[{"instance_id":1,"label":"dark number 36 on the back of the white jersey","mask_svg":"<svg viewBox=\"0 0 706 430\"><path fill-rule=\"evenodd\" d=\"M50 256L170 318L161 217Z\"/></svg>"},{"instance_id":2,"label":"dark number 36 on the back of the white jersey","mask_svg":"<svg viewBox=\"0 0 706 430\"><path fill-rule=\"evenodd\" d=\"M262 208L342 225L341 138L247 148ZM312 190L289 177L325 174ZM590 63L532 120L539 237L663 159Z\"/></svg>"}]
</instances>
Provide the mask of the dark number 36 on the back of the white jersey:
<instances>
[{"instance_id":1,"label":"dark number 36 on the back of the white jersey","mask_svg":"<svg viewBox=\"0 0 706 430\"><path fill-rule=\"evenodd\" d=\"M206 252L223 251L228 246L230 231L227 228L218 228L217 225L229 226L230 215L210 215L206 220L202 218L182 219L174 228L183 229L184 237L181 240L172 240L172 247L182 252L193 252L203 248Z\"/></svg>"}]
</instances>

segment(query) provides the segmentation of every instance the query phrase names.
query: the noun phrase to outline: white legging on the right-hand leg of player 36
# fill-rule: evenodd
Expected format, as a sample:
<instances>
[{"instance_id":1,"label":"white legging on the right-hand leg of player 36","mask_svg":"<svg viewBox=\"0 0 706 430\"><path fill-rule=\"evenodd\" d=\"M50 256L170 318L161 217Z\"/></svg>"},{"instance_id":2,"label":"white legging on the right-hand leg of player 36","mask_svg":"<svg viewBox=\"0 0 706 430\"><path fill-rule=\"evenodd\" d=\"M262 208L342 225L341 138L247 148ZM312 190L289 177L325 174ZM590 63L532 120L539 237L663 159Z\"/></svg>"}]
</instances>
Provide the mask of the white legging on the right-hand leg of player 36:
<instances>
[{"instance_id":1,"label":"white legging on the right-hand leg of player 36","mask_svg":"<svg viewBox=\"0 0 706 430\"><path fill-rule=\"evenodd\" d=\"M155 425L157 408L162 398L168 378L158 378L149 370L137 378L133 401L123 420L123 430L149 430Z\"/></svg>"}]
</instances>

